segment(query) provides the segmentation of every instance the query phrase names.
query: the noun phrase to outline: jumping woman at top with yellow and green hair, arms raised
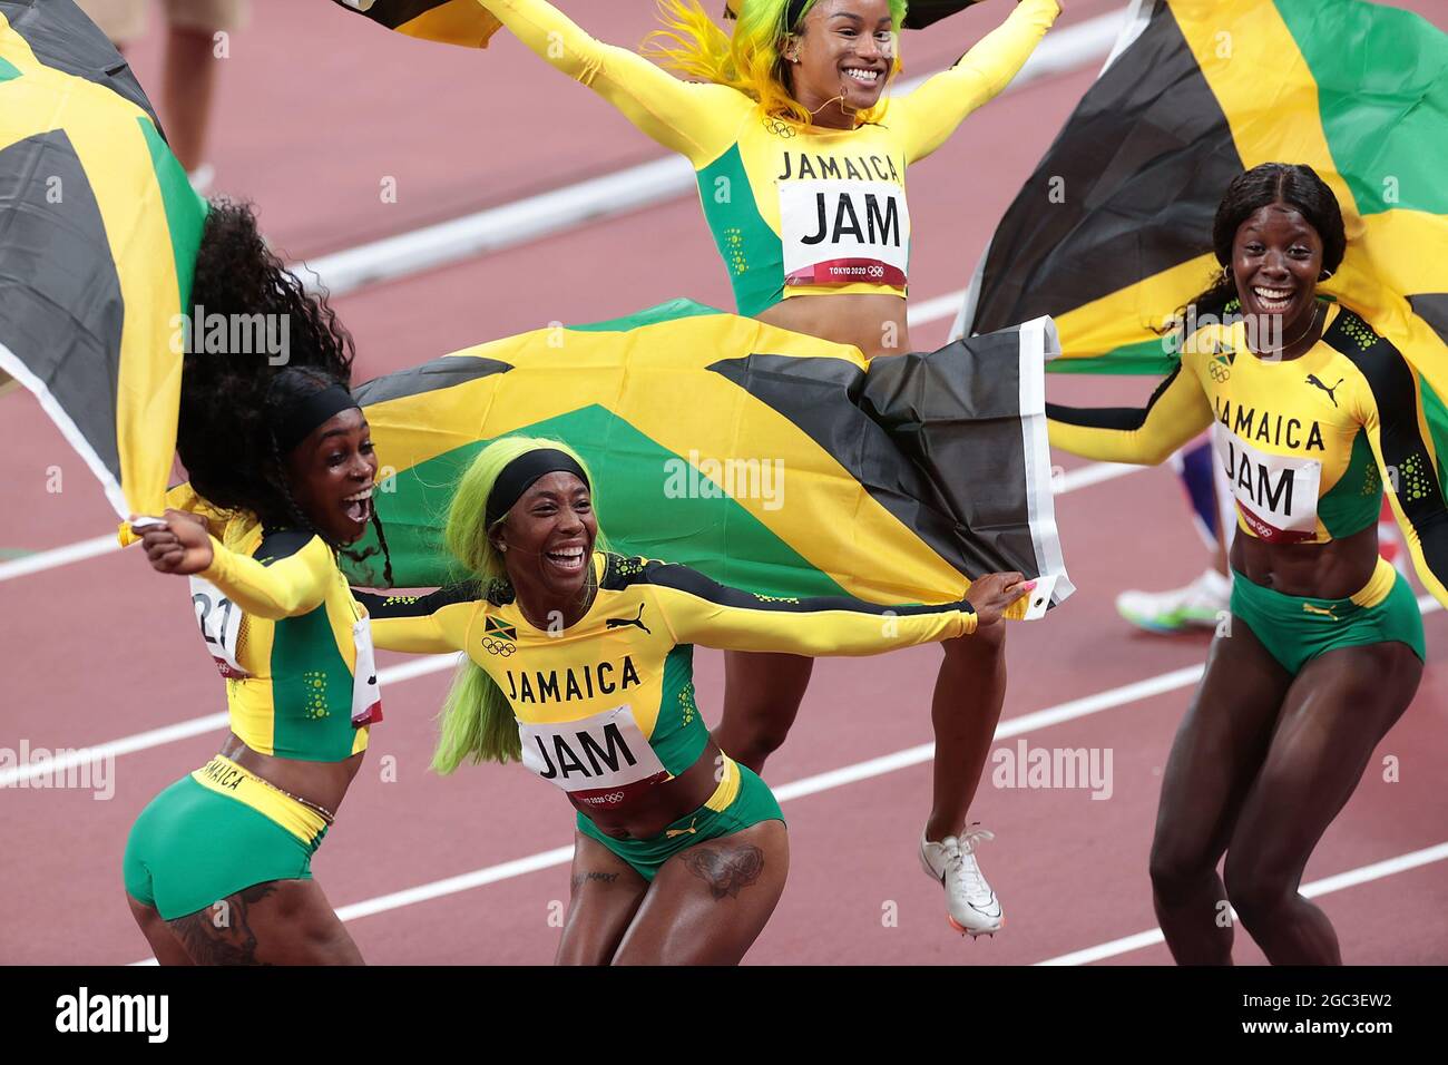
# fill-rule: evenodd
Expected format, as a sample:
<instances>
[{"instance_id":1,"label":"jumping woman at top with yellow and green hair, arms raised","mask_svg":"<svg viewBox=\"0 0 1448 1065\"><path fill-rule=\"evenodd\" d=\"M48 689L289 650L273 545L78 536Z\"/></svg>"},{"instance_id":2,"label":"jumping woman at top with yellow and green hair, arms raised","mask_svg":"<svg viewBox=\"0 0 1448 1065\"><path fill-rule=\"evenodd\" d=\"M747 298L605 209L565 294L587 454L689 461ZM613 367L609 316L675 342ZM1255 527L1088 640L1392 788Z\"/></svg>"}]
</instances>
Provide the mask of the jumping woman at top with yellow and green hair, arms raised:
<instances>
[{"instance_id":1,"label":"jumping woman at top with yellow and green hair, arms raised","mask_svg":"<svg viewBox=\"0 0 1448 1065\"><path fill-rule=\"evenodd\" d=\"M652 35L653 51L691 81L595 41L546 0L478 3L689 159L740 314L866 358L911 351L906 167L1009 84L1061 10L1058 0L1019 0L959 62L886 100L901 70L905 0L737 0L733 35L698 0L660 0L665 28ZM975 856L990 833L966 822L1005 703L1005 626L941 646L934 797L919 858L944 884L950 923L993 933L1005 916ZM727 655L720 745L760 771L783 743L812 668L798 655Z\"/></svg>"}]
</instances>

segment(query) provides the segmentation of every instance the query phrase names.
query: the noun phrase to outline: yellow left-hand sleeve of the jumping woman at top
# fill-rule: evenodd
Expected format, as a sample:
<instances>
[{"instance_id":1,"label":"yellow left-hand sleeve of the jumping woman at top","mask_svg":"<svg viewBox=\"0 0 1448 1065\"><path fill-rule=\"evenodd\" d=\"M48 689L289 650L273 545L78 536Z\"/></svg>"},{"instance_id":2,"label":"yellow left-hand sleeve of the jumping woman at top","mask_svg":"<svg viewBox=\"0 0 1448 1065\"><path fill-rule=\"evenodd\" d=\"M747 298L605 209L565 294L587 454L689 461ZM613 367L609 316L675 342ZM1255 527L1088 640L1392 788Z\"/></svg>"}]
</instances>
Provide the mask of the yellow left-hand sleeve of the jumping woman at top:
<instances>
[{"instance_id":1,"label":"yellow left-hand sleeve of the jumping woman at top","mask_svg":"<svg viewBox=\"0 0 1448 1065\"><path fill-rule=\"evenodd\" d=\"M681 81L637 52L605 45L547 0L478 0L539 58L588 85L695 170L734 141L753 101L727 85Z\"/></svg>"}]
</instances>

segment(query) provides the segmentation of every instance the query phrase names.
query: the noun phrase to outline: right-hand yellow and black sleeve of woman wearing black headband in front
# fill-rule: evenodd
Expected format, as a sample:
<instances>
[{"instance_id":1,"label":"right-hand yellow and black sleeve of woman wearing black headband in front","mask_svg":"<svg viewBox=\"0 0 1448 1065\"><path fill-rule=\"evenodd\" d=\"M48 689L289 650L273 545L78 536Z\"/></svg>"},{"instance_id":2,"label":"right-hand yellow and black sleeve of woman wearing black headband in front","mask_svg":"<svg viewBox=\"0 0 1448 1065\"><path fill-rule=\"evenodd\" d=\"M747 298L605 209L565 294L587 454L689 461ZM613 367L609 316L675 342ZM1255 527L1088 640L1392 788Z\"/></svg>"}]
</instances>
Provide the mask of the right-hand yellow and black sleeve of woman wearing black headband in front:
<instances>
[{"instance_id":1,"label":"right-hand yellow and black sleeve of woman wearing black headband in front","mask_svg":"<svg viewBox=\"0 0 1448 1065\"><path fill-rule=\"evenodd\" d=\"M643 580L675 640L725 651L795 655L877 655L976 630L964 600L931 607L882 607L830 596L775 598L727 588L682 565L650 562Z\"/></svg>"}]
</instances>

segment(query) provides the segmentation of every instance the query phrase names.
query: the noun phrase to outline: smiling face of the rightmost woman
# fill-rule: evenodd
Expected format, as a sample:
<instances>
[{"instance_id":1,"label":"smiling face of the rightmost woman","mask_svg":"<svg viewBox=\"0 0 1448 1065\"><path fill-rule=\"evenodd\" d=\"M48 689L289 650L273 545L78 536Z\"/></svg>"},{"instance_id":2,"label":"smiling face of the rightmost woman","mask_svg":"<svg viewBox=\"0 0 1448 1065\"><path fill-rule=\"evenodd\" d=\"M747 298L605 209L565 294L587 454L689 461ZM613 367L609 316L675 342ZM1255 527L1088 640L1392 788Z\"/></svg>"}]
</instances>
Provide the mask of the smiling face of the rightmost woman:
<instances>
[{"instance_id":1,"label":"smiling face of the rightmost woman","mask_svg":"<svg viewBox=\"0 0 1448 1065\"><path fill-rule=\"evenodd\" d=\"M1290 204L1260 207L1237 227L1232 274L1242 313L1258 323L1258 335L1297 336L1316 313L1322 238Z\"/></svg>"}]
</instances>

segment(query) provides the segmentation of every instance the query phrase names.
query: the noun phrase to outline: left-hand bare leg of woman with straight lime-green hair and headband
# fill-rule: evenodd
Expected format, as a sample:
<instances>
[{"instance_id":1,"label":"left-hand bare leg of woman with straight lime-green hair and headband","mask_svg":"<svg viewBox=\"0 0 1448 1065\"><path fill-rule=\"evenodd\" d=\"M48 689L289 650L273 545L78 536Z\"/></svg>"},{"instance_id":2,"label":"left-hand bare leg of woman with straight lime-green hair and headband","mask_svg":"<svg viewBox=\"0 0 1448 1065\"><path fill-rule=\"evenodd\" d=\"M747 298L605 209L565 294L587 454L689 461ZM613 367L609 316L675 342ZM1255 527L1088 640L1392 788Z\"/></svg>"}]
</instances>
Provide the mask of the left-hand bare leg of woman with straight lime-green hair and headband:
<instances>
[{"instance_id":1,"label":"left-hand bare leg of woman with straight lime-green hair and headband","mask_svg":"<svg viewBox=\"0 0 1448 1065\"><path fill-rule=\"evenodd\" d=\"M573 833L572 891L555 965L608 965L649 881L592 836Z\"/></svg>"}]
</instances>

